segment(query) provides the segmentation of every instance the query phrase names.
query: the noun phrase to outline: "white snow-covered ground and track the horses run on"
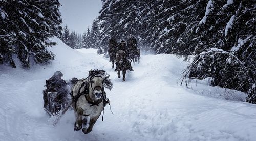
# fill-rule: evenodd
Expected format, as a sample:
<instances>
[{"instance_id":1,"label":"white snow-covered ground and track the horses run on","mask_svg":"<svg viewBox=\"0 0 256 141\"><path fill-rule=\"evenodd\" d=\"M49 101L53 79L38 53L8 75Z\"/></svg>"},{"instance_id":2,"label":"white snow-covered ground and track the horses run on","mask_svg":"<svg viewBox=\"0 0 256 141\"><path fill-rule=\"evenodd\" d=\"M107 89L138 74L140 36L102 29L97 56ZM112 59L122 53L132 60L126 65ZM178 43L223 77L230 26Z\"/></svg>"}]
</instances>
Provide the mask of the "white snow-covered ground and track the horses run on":
<instances>
[{"instance_id":1,"label":"white snow-covered ground and track the horses run on","mask_svg":"<svg viewBox=\"0 0 256 141\"><path fill-rule=\"evenodd\" d=\"M193 89L177 81L187 63L174 55L143 55L126 82L117 78L108 59L95 49L73 50L59 39L51 48L51 65L30 70L0 66L0 140L255 140L256 105L225 100L224 90L192 81ZM88 70L104 69L114 88L111 100L93 131L74 131L74 113L66 112L56 126L42 108L45 80L57 70L63 79L85 78ZM230 90L228 90L230 92ZM233 99L244 99L236 92Z\"/></svg>"}]
</instances>

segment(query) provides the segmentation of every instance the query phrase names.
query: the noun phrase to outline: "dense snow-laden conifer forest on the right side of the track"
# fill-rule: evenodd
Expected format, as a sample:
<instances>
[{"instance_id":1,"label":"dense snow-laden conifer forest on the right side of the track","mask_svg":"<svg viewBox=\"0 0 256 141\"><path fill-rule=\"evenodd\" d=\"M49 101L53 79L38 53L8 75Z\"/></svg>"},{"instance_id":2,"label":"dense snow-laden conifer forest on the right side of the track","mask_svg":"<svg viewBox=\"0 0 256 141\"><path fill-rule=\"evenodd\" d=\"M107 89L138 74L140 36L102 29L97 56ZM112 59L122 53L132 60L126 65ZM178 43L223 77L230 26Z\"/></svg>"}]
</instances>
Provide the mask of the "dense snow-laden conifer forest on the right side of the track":
<instances>
[{"instance_id":1,"label":"dense snow-laden conifer forest on the right side of the track","mask_svg":"<svg viewBox=\"0 0 256 141\"><path fill-rule=\"evenodd\" d=\"M102 1L100 42L133 34L141 46L193 62L185 77L248 93L256 103L255 1Z\"/></svg>"}]
</instances>

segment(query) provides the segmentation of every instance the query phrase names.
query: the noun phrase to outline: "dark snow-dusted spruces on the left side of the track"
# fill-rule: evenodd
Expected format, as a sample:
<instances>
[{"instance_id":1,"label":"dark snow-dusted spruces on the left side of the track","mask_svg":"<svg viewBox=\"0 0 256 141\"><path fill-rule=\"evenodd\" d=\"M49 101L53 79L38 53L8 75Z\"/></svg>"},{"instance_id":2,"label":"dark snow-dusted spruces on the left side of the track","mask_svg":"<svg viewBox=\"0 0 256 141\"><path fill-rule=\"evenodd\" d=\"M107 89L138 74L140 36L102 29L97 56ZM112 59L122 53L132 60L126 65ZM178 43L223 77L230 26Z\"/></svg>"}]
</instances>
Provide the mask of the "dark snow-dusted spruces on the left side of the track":
<instances>
[{"instance_id":1,"label":"dark snow-dusted spruces on the left side of the track","mask_svg":"<svg viewBox=\"0 0 256 141\"><path fill-rule=\"evenodd\" d=\"M55 45L49 37L61 34L60 6L54 1L0 1L0 63L15 68L17 54L23 68L30 60L49 63L54 55L46 47Z\"/></svg>"}]
</instances>

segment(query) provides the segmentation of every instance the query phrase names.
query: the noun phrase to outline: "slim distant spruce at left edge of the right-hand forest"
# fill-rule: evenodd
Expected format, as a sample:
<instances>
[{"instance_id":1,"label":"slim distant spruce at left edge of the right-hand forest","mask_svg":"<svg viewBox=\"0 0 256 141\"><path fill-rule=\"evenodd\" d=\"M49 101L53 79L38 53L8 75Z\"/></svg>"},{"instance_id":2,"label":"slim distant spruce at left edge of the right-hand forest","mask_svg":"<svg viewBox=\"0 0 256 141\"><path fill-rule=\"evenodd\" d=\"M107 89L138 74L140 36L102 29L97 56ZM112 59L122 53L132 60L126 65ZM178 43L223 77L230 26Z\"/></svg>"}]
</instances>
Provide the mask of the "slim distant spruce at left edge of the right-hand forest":
<instances>
[{"instance_id":1,"label":"slim distant spruce at left edge of the right-hand forest","mask_svg":"<svg viewBox=\"0 0 256 141\"><path fill-rule=\"evenodd\" d=\"M99 34L100 31L98 26L98 19L94 19L89 38L91 42L91 48L98 48Z\"/></svg>"}]
</instances>

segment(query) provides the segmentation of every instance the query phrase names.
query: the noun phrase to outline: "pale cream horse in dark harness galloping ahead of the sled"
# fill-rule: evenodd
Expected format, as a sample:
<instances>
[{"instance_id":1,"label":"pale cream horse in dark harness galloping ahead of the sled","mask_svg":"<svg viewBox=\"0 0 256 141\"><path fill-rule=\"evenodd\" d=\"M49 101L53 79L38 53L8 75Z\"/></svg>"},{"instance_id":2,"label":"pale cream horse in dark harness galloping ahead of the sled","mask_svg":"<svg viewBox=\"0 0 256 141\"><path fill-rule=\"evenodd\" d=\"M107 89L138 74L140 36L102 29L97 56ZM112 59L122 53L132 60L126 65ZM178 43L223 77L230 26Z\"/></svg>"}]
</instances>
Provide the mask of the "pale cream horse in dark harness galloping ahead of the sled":
<instances>
[{"instance_id":1,"label":"pale cream horse in dark harness galloping ahead of the sled","mask_svg":"<svg viewBox=\"0 0 256 141\"><path fill-rule=\"evenodd\" d=\"M82 116L89 116L89 127L83 128L82 131L85 134L92 131L93 125L99 118L105 104L108 103L104 87L110 90L113 87L109 74L104 70L91 70L86 79L80 79L76 82L72 89L72 107L76 116L74 130L81 130Z\"/></svg>"}]
</instances>

